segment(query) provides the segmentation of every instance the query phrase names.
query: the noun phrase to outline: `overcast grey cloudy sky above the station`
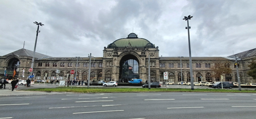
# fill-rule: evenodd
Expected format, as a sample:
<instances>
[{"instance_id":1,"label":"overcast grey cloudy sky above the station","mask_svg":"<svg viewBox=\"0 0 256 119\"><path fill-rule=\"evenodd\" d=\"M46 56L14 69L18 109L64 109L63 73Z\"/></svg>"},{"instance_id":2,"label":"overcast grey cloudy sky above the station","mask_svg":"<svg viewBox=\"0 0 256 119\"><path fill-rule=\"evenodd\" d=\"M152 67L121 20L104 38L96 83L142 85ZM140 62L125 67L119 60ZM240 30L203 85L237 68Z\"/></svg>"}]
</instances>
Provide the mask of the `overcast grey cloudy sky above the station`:
<instances>
[{"instance_id":1,"label":"overcast grey cloudy sky above the station","mask_svg":"<svg viewBox=\"0 0 256 119\"><path fill-rule=\"evenodd\" d=\"M0 56L23 48L52 57L102 57L128 34L159 57L225 57L256 48L255 0L0 0Z\"/></svg>"}]
</instances>

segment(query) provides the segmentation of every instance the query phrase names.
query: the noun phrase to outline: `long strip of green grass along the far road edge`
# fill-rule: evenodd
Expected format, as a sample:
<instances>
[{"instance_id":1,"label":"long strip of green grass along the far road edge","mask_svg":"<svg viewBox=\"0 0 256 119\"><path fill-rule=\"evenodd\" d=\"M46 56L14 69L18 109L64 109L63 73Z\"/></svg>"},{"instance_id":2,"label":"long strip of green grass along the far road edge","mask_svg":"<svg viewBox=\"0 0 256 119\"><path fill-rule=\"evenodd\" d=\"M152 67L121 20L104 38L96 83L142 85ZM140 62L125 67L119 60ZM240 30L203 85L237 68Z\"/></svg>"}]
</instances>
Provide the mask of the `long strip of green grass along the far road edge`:
<instances>
[{"instance_id":1,"label":"long strip of green grass along the far road edge","mask_svg":"<svg viewBox=\"0 0 256 119\"><path fill-rule=\"evenodd\" d=\"M227 90L227 89L164 89L164 88L83 88L83 87L72 87L64 88L40 88L40 89L28 89L26 91L48 91L48 92L79 92L79 93L95 93L95 92L253 92L255 90Z\"/></svg>"}]
</instances>

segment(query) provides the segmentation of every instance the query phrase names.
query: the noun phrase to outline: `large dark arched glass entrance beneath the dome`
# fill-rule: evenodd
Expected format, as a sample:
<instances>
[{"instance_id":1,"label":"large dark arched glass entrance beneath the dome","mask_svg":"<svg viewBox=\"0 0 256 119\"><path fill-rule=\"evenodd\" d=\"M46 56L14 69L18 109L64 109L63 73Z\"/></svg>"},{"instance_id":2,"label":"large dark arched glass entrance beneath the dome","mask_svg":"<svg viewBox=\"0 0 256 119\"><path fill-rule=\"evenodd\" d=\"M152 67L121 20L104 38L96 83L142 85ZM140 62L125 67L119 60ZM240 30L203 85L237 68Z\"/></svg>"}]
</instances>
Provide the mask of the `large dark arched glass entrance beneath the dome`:
<instances>
[{"instance_id":1,"label":"large dark arched glass entrance beneath the dome","mask_svg":"<svg viewBox=\"0 0 256 119\"><path fill-rule=\"evenodd\" d=\"M131 79L139 79L139 61L131 54L125 55L120 61L119 79L128 82Z\"/></svg>"}]
</instances>

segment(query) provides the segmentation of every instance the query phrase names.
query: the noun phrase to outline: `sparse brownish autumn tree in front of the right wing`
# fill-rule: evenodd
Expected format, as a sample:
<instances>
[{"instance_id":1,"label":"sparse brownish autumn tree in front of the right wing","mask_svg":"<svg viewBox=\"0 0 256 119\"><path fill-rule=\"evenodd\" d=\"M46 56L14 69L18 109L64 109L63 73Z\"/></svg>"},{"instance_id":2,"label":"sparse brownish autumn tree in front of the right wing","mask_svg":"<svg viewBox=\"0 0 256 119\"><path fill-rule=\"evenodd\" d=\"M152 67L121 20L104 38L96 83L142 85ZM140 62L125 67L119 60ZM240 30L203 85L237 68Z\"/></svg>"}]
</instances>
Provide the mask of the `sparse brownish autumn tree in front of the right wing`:
<instances>
[{"instance_id":1,"label":"sparse brownish autumn tree in front of the right wing","mask_svg":"<svg viewBox=\"0 0 256 119\"><path fill-rule=\"evenodd\" d=\"M230 68L231 62L229 62L227 60L217 59L213 63L214 63L214 65L211 69L214 72L213 76L215 76L215 77L220 77L220 75L222 75L222 74L229 74L232 72L232 70Z\"/></svg>"}]
</instances>

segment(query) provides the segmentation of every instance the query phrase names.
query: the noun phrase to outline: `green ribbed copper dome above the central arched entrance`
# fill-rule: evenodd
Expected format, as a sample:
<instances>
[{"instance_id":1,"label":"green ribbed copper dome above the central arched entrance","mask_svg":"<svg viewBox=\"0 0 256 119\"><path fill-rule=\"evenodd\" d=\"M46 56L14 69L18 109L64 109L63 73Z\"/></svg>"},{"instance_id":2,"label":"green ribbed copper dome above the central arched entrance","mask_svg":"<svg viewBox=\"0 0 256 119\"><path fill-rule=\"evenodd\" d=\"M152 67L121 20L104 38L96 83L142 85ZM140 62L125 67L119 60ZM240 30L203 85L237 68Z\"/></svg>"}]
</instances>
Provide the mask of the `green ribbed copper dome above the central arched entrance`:
<instances>
[{"instance_id":1,"label":"green ribbed copper dome above the central arched entrance","mask_svg":"<svg viewBox=\"0 0 256 119\"><path fill-rule=\"evenodd\" d=\"M127 38L121 38L108 44L108 48L127 47L129 45L132 47L155 47L155 44L150 43L147 39L138 38L135 33L131 33Z\"/></svg>"}]
</instances>

